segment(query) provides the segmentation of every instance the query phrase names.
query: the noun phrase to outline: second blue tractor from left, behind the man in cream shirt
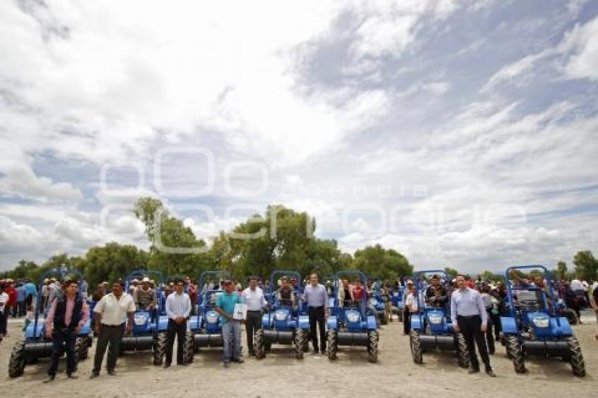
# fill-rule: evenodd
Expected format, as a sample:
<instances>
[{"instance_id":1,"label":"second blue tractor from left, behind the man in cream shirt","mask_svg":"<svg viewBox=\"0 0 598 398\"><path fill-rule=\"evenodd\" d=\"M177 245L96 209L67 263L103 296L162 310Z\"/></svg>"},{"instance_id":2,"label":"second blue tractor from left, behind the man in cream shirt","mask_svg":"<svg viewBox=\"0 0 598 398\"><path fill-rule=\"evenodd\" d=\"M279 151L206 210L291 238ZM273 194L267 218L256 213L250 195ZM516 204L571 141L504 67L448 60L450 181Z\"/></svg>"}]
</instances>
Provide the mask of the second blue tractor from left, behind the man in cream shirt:
<instances>
[{"instance_id":1,"label":"second blue tractor from left, behind the man in cream shirt","mask_svg":"<svg viewBox=\"0 0 598 398\"><path fill-rule=\"evenodd\" d=\"M144 278L156 276L158 283L155 288L156 307L154 309L143 308L138 304L134 314L134 324L130 335L123 335L120 342L120 354L129 351L145 351L151 349L153 352L153 364L163 364L166 353L166 328L168 319L163 315L162 285L163 275L160 271L146 271L139 269L132 271L125 278L125 291L129 291L129 283L133 278Z\"/></svg>"}]
</instances>

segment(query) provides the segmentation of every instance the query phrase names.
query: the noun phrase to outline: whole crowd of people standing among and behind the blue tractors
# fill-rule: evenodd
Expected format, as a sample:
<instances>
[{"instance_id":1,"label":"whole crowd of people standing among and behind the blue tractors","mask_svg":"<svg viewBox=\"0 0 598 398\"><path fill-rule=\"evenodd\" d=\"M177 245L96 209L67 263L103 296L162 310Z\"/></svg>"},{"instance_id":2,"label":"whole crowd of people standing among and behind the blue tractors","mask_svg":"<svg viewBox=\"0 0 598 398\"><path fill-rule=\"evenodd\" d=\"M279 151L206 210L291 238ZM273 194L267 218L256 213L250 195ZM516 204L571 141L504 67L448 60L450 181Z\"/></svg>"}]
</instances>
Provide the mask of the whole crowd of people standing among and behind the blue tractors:
<instances>
[{"instance_id":1,"label":"whole crowd of people standing among and behind the blue tractors","mask_svg":"<svg viewBox=\"0 0 598 398\"><path fill-rule=\"evenodd\" d=\"M418 281L412 279L397 279L394 284L389 281L357 279L350 281L326 281L319 283L319 276L311 274L303 281L296 278L283 277L273 285L276 290L271 291L269 281L262 283L261 278L250 277L248 286L228 278L205 281L203 286L193 283L189 277L174 278L164 285L156 285L148 277L129 281L128 289L124 281L100 283L94 292L88 295L87 283L66 279L57 281L56 278L44 280L42 289L28 280L0 281L0 338L7 335L6 322L8 317L25 316L23 330L32 321L34 311L45 314L44 330L46 337L53 342L53 354L48 370L46 383L56 378L58 358L67 353L67 376L77 378L77 361L75 361L75 340L79 331L91 316L94 315L94 334L98 338L96 356L91 378L100 375L104 354L108 349L106 368L108 375L115 375L117 354L122 336L131 333L134 323L134 312L146 310L153 316L158 316L158 309L168 317L167 345L164 367L172 364L174 340L177 340L177 364L186 365L184 360L184 338L189 316L197 314L198 295L208 290L218 290L215 299L215 309L220 314L222 337L224 342L223 364L228 367L231 361L243 363L241 356L241 323L245 323L248 352L255 355L253 347L254 335L261 326L261 315L269 307L266 295L271 293L283 304L297 307L305 303L310 321L310 337L312 352L318 354L326 350L325 322L329 316L329 300L336 298L339 307L357 307L363 315L376 315L376 309L371 302L372 297L379 295L384 303L384 310L388 319L392 320L390 297L396 291L403 291L405 302L403 315L404 332L409 333L410 318L418 314L420 306L426 304L431 307L445 307L450 311L454 330L462 332L469 348L471 371L479 371L475 345L481 355L485 371L494 376L490 365L489 354L495 353L495 341L500 336L500 314L507 304L507 288L502 281L483 281L469 276L459 275L447 280L433 275L430 278L421 277ZM336 290L332 283L338 283ZM549 290L549 283L540 276L524 278L516 274L511 275L513 288L521 286L527 288L535 286L538 291L547 293L545 305L552 308L552 297L568 305L580 314L583 307L592 307L598 319L598 282L590 283L573 280L571 282L558 281ZM419 285L419 290L416 285ZM163 291L163 295L158 294ZM334 292L336 291L336 297ZM418 295L419 291L419 295ZM37 295L41 295L38 297ZM158 302L158 300L161 300ZM39 308L34 303L39 303ZM234 316L235 304L246 304L245 319ZM596 335L598 339L598 333Z\"/></svg>"}]
</instances>

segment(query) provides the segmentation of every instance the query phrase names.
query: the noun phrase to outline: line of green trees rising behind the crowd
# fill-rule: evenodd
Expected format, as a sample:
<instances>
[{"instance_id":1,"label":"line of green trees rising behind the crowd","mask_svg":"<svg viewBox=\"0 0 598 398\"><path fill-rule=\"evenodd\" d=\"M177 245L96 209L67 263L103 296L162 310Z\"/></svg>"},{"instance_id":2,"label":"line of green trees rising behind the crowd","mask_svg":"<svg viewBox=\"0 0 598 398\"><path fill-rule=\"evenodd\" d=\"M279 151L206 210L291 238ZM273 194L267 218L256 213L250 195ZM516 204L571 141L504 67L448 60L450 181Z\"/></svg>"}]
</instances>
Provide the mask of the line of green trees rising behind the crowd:
<instances>
[{"instance_id":1,"label":"line of green trees rising behind the crowd","mask_svg":"<svg viewBox=\"0 0 598 398\"><path fill-rule=\"evenodd\" d=\"M381 245L367 246L353 255L341 252L336 240L314 237L316 222L307 213L281 205L270 205L265 214L254 214L231 231L220 231L209 247L158 199L139 198L132 211L145 225L149 250L110 242L90 248L82 256L54 255L41 265L23 259L11 271L0 273L0 278L37 281L45 271L63 266L82 271L91 286L122 278L134 269L192 279L202 271L226 270L240 281L251 275L268 278L274 269L298 271L302 276L316 271L322 277L344 269L360 269L383 279L413 274L407 257ZM248 235L252 237L239 238ZM160 250L158 243L198 250L174 254Z\"/></svg>"}]
</instances>

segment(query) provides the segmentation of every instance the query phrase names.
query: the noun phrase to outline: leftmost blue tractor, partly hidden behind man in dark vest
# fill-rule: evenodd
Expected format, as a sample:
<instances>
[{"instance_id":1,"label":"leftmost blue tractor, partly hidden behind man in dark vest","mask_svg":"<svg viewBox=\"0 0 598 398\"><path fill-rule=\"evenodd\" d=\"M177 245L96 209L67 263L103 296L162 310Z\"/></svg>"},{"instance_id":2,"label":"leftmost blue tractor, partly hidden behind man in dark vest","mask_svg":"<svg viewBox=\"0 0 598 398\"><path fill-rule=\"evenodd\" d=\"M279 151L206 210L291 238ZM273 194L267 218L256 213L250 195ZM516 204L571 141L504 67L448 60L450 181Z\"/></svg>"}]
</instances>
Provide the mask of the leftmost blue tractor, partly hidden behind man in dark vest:
<instances>
[{"instance_id":1,"label":"leftmost blue tractor, partly hidden behind man in dark vest","mask_svg":"<svg viewBox=\"0 0 598 398\"><path fill-rule=\"evenodd\" d=\"M64 281L68 274L77 276L79 281L84 279L84 276L75 269L51 269L44 272L39 278L36 309L42 305L42 286L44 279L49 276L57 276L58 280ZM81 284L79 283L79 294L81 294ZM89 347L91 347L91 319L88 320L75 341L75 350L77 361L86 359L89 354ZM39 359L51 357L52 354L52 339L46 338L46 327L44 321L39 319L39 311L35 311L35 319L25 330L25 338L18 340L13 346L11 352L11 359L8 364L8 375L11 378L23 375L25 366L27 364L34 364Z\"/></svg>"}]
</instances>

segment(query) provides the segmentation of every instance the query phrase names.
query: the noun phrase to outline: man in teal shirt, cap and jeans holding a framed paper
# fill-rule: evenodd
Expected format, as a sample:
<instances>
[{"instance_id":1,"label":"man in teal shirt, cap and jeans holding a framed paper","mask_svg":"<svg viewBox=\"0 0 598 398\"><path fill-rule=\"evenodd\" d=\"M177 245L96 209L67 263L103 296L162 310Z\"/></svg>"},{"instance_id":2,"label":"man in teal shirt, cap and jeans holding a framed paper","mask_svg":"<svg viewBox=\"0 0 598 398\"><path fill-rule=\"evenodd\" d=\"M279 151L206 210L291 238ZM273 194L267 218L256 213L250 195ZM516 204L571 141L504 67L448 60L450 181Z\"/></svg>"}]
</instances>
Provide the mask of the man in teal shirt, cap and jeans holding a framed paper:
<instances>
[{"instance_id":1,"label":"man in teal shirt, cap and jeans holding a framed paper","mask_svg":"<svg viewBox=\"0 0 598 398\"><path fill-rule=\"evenodd\" d=\"M218 295L216 300L216 312L220 314L222 325L222 340L224 350L222 359L224 367L228 368L231 361L243 364L241 358L241 321L233 319L235 304L241 303L241 297L234 291L234 285L230 279L224 280L224 293ZM234 347L231 349L231 336L234 339Z\"/></svg>"}]
</instances>

